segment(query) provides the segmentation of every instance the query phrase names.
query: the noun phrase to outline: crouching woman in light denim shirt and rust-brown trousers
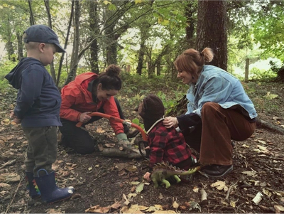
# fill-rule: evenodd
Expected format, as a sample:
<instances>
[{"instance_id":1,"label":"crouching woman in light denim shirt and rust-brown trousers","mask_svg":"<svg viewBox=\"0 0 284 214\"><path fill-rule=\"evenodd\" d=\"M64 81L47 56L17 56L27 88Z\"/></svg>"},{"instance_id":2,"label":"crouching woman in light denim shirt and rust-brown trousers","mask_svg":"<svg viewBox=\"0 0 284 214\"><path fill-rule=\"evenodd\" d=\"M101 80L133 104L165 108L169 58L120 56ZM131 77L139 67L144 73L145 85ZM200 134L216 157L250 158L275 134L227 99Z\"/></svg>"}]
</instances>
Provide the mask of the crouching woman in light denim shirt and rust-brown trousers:
<instances>
[{"instance_id":1,"label":"crouching woman in light denim shirt and rust-brown trousers","mask_svg":"<svg viewBox=\"0 0 284 214\"><path fill-rule=\"evenodd\" d=\"M200 152L202 172L221 177L233 169L231 139L248 139L256 129L256 109L241 82L211 62L213 52L187 49L175 60L178 77L190 85L187 112L166 117L165 127L179 127L187 144Z\"/></svg>"}]
</instances>

